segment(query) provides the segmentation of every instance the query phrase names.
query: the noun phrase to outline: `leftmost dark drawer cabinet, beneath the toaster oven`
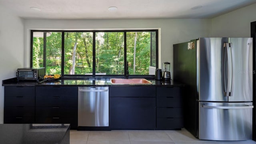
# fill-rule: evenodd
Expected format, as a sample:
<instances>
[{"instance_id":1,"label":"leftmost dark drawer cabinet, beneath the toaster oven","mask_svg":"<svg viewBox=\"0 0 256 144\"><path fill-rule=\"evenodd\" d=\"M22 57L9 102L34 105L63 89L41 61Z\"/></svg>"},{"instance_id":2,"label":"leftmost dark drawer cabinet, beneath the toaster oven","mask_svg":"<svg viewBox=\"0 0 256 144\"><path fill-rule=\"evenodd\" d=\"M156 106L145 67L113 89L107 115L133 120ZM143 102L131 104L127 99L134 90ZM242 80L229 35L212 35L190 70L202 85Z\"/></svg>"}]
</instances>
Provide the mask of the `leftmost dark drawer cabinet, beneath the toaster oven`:
<instances>
[{"instance_id":1,"label":"leftmost dark drawer cabinet, beneath the toaster oven","mask_svg":"<svg viewBox=\"0 0 256 144\"><path fill-rule=\"evenodd\" d=\"M30 124L35 119L35 87L4 87L4 124Z\"/></svg>"}]
</instances>

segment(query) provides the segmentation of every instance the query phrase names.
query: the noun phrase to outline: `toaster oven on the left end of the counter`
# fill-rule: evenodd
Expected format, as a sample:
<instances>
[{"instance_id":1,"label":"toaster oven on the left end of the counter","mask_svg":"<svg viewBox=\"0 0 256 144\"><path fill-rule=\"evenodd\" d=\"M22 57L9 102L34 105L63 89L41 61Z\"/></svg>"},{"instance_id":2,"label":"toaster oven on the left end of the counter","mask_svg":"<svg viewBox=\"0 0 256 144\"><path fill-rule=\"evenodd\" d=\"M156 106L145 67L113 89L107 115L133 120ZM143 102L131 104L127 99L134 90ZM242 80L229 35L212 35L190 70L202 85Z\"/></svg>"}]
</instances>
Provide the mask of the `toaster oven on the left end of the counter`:
<instances>
[{"instance_id":1,"label":"toaster oven on the left end of the counter","mask_svg":"<svg viewBox=\"0 0 256 144\"><path fill-rule=\"evenodd\" d=\"M17 80L38 80L44 77L45 68L18 68L16 72Z\"/></svg>"}]
</instances>

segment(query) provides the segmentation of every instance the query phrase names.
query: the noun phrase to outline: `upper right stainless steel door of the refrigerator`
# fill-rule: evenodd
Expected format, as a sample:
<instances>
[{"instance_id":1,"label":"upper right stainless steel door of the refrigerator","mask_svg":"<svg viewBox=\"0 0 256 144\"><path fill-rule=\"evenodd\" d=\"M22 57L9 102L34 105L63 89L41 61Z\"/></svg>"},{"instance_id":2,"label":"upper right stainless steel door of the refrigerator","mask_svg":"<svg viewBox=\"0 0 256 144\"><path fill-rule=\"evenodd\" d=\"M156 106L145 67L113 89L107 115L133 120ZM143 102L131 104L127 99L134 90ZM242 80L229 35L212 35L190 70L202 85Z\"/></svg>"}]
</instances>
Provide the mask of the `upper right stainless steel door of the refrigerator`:
<instances>
[{"instance_id":1,"label":"upper right stainless steel door of the refrigerator","mask_svg":"<svg viewBox=\"0 0 256 144\"><path fill-rule=\"evenodd\" d=\"M252 101L252 38L228 38L232 54L229 102Z\"/></svg>"}]
</instances>

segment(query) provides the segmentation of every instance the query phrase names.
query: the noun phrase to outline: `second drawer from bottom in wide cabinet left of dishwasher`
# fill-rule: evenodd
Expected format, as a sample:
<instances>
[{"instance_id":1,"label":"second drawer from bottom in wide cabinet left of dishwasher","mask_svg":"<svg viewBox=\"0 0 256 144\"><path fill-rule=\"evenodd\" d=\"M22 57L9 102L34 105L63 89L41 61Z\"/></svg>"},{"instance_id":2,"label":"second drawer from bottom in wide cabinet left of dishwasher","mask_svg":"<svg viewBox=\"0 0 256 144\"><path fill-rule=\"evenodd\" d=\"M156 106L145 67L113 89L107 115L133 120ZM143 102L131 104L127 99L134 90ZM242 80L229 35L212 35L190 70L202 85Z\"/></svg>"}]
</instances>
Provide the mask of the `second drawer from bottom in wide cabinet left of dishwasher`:
<instances>
[{"instance_id":1,"label":"second drawer from bottom in wide cabinet left of dishwasher","mask_svg":"<svg viewBox=\"0 0 256 144\"><path fill-rule=\"evenodd\" d=\"M77 117L77 108L36 107L36 116L40 117Z\"/></svg>"}]
</instances>

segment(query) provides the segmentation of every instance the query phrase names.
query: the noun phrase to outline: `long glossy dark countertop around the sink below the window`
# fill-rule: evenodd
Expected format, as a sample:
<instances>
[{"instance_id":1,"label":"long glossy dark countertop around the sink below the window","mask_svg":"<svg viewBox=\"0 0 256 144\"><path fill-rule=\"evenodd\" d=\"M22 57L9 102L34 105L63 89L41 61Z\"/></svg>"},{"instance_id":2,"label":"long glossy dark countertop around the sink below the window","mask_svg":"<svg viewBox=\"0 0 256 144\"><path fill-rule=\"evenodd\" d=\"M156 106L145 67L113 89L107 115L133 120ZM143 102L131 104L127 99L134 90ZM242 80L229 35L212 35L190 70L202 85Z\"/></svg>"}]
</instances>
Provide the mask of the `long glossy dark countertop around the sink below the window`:
<instances>
[{"instance_id":1,"label":"long glossy dark countertop around the sink below the window","mask_svg":"<svg viewBox=\"0 0 256 144\"><path fill-rule=\"evenodd\" d=\"M152 84L111 84L110 79L59 79L50 81L17 81L17 78L3 80L2 86L184 86L180 82L148 80Z\"/></svg>"}]
</instances>

